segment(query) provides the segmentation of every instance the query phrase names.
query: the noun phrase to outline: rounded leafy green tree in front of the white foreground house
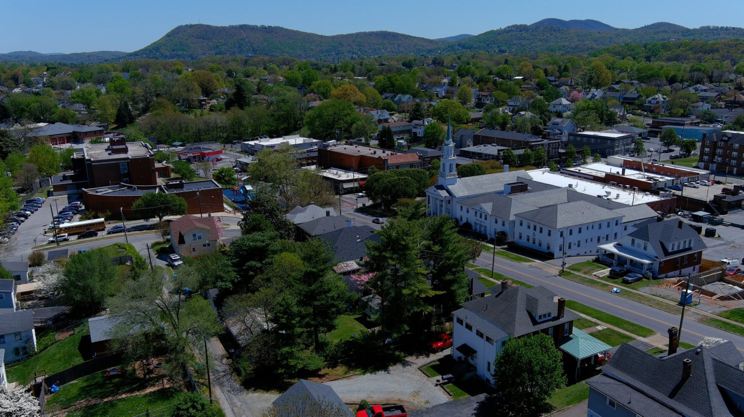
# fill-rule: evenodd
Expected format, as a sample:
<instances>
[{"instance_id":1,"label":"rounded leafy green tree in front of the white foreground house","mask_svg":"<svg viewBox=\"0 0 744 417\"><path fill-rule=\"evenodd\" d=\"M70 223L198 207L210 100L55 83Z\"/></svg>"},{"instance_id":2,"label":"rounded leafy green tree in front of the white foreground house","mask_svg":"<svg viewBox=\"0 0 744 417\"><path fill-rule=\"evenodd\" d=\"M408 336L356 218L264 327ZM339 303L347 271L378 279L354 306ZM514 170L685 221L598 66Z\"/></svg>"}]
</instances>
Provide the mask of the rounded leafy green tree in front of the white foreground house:
<instances>
[{"instance_id":1,"label":"rounded leafy green tree in front of the white foreground house","mask_svg":"<svg viewBox=\"0 0 744 417\"><path fill-rule=\"evenodd\" d=\"M510 338L493 364L496 392L510 416L542 416L552 408L548 398L566 383L561 353L542 333Z\"/></svg>"}]
</instances>

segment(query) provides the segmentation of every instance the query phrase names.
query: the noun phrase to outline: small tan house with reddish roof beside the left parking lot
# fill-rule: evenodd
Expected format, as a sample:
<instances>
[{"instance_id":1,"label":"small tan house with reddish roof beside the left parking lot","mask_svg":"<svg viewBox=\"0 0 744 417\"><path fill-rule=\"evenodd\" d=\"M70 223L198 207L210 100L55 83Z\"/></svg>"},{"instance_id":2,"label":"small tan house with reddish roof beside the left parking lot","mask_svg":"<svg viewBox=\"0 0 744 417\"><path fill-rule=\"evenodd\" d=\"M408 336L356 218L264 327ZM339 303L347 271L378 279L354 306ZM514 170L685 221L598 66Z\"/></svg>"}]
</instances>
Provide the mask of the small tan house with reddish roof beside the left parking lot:
<instances>
[{"instance_id":1,"label":"small tan house with reddish roof beside the left parking lot","mask_svg":"<svg viewBox=\"0 0 744 417\"><path fill-rule=\"evenodd\" d=\"M170 244L179 256L209 255L217 249L220 229L217 217L186 214L170 223Z\"/></svg>"}]
</instances>

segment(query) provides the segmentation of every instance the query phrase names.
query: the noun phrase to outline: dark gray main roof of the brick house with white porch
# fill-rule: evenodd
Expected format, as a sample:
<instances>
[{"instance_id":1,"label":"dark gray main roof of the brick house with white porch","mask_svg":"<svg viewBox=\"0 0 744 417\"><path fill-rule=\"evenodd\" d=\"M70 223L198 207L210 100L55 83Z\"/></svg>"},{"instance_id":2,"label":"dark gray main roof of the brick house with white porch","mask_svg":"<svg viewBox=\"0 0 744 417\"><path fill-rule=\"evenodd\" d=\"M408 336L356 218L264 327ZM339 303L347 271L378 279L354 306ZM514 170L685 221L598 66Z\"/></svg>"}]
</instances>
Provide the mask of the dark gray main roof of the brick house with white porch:
<instances>
[{"instance_id":1,"label":"dark gray main roof of the brick house with white porch","mask_svg":"<svg viewBox=\"0 0 744 417\"><path fill-rule=\"evenodd\" d=\"M682 224L682 227L680 227L680 224ZM648 242L654 252L656 252L656 256L659 259L664 259L670 256L677 257L686 253L699 252L708 249L708 246L702 241L700 235L697 234L695 229L690 227L687 223L684 223L682 220L672 219L663 222L649 222L645 226L639 227L638 229L635 229L635 231L630 232L628 236ZM674 252L667 251L667 247L664 246L664 243L676 243L688 239L693 240L692 246Z\"/></svg>"}]
</instances>

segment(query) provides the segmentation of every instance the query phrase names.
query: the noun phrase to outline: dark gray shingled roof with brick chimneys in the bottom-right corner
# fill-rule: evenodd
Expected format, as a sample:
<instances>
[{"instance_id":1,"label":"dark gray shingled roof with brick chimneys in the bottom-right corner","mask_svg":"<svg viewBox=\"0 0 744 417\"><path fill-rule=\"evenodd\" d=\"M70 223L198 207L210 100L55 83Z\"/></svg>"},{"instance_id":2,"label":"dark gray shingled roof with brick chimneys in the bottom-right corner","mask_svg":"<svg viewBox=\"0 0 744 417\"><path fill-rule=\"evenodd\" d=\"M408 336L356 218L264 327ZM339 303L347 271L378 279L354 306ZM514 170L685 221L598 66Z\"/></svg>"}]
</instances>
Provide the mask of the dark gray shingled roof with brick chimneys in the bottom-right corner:
<instances>
[{"instance_id":1,"label":"dark gray shingled roof with brick chimneys in the bottom-right corner","mask_svg":"<svg viewBox=\"0 0 744 417\"><path fill-rule=\"evenodd\" d=\"M687 379L682 378L685 359L692 361L692 375ZM642 416L740 416L737 401L727 404L722 388L744 395L744 372L739 370L743 361L730 341L661 357L622 344L604 366L604 375L587 384Z\"/></svg>"}]
</instances>

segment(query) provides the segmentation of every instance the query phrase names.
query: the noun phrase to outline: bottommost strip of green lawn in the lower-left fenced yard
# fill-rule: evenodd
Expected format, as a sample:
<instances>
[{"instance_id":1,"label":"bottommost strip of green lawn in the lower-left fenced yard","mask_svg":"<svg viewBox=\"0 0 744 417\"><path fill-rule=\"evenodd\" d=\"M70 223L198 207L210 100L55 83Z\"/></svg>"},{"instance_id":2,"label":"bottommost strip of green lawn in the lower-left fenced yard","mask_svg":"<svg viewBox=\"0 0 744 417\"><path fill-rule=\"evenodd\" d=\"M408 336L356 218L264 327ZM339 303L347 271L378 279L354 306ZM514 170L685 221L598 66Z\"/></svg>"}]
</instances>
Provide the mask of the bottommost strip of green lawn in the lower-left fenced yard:
<instances>
[{"instance_id":1,"label":"bottommost strip of green lawn in the lower-left fenced yard","mask_svg":"<svg viewBox=\"0 0 744 417\"><path fill-rule=\"evenodd\" d=\"M88 407L71 410L67 417L131 417L138 414L153 411L159 407L176 402L176 395L180 390L175 388L166 388L164 390L153 391L152 393L133 395L120 400L108 401L101 404L89 405ZM161 410L158 410L158 413ZM163 415L162 413L158 416ZM165 414L167 415L167 414Z\"/></svg>"}]
</instances>

